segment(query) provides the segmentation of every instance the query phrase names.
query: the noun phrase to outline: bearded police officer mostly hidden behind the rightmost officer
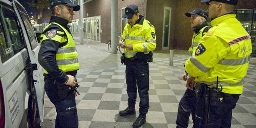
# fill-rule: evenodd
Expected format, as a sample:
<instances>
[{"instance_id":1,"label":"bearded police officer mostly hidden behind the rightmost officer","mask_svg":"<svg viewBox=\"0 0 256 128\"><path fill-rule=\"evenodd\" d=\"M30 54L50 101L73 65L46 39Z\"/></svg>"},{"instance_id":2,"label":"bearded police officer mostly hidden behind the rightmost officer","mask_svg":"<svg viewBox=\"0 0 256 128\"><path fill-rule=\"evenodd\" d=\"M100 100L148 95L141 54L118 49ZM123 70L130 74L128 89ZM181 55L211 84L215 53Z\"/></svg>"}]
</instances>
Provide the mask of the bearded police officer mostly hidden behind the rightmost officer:
<instances>
[{"instance_id":1,"label":"bearded police officer mostly hidden behind the rightmost officer","mask_svg":"<svg viewBox=\"0 0 256 128\"><path fill-rule=\"evenodd\" d=\"M192 37L191 47L189 48L189 57L191 57L192 52L198 45L198 42L211 27L206 23L208 13L200 8L196 8L192 12L187 12L185 15L190 17L189 22L192 30L195 32ZM183 75L183 80L187 80L187 75L188 74L185 72ZM197 99L195 97L195 91L188 88L179 103L176 128L188 127L190 112L194 123L196 101Z\"/></svg>"}]
</instances>

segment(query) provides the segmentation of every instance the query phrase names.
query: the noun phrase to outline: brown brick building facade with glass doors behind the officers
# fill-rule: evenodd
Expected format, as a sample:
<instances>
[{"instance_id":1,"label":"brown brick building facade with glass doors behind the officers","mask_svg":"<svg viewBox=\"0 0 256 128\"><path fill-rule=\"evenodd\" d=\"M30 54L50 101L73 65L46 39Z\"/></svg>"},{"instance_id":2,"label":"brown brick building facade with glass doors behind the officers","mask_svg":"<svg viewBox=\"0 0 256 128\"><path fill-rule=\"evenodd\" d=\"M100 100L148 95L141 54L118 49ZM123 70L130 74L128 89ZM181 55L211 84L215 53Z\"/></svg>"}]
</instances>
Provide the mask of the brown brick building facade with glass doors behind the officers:
<instances>
[{"instance_id":1,"label":"brown brick building facade with glass doors behind the officers","mask_svg":"<svg viewBox=\"0 0 256 128\"><path fill-rule=\"evenodd\" d=\"M83 7L84 39L108 43L111 39L111 0L83 0L83 2L81 7ZM157 37L156 50L187 50L191 45L193 31L189 17L186 17L185 13L195 8L204 10L208 8L206 4L200 4L200 0L118 0L118 36L121 36L123 27L127 23L127 19L122 18L124 8L131 4L137 5L139 13L154 25ZM237 18L251 34L253 56L256 56L255 8L255 0L239 0L235 11ZM43 14L51 14L50 9L44 10ZM37 23L43 23L47 18L50 19L50 15L42 16ZM73 19L73 23L70 23L71 31L74 37L79 37L79 12L75 12Z\"/></svg>"}]
</instances>

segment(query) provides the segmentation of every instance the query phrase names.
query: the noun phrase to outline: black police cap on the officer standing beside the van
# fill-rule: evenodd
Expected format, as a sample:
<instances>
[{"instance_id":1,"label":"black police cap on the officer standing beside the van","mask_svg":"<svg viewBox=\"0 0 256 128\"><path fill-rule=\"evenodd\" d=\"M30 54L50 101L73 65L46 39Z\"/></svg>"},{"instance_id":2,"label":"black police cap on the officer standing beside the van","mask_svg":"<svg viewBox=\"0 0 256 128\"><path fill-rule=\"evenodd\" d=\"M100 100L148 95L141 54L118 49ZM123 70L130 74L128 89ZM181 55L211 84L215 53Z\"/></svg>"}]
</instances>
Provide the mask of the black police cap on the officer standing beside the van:
<instances>
[{"instance_id":1,"label":"black police cap on the officer standing beside the van","mask_svg":"<svg viewBox=\"0 0 256 128\"><path fill-rule=\"evenodd\" d=\"M50 8L52 8L56 5L67 5L69 7L73 7L73 11L80 10L80 6L73 4L73 2L71 2L71 0L50 0Z\"/></svg>"}]
</instances>

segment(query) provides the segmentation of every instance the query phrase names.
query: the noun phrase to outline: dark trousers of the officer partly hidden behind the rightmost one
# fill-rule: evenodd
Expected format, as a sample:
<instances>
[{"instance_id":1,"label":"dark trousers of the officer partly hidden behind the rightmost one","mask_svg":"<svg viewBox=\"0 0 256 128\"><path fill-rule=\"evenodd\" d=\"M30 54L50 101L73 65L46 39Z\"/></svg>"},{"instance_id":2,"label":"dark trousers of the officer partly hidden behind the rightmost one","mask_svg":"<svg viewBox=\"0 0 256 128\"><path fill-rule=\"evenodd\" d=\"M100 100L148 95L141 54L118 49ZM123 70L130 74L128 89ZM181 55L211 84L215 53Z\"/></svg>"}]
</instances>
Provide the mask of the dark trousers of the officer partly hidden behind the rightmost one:
<instances>
[{"instance_id":1,"label":"dark trousers of the officer partly hidden behind the rightmost one","mask_svg":"<svg viewBox=\"0 0 256 128\"><path fill-rule=\"evenodd\" d=\"M195 91L187 89L179 103L176 128L187 128L189 126L190 112L192 115L193 123L195 123L196 101L197 98L195 97Z\"/></svg>"}]
</instances>

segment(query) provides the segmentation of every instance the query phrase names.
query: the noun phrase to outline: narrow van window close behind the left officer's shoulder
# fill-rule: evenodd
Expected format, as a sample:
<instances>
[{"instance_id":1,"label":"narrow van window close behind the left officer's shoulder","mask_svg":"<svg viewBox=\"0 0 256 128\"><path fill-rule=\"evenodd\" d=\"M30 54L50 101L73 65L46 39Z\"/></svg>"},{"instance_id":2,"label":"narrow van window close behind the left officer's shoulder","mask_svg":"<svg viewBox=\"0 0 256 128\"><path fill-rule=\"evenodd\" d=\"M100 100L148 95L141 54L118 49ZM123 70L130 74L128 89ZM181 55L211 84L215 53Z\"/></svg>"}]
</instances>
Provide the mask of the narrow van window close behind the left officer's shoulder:
<instances>
[{"instance_id":1,"label":"narrow van window close behind the left officer's shoulder","mask_svg":"<svg viewBox=\"0 0 256 128\"><path fill-rule=\"evenodd\" d=\"M27 15L26 10L22 6L20 6L20 4L16 4L16 6L19 10L21 19L22 19L22 21L25 25L26 30L27 30L27 35L29 37L31 48L33 50L34 48L36 48L36 46L38 46L38 44L36 42L36 35L35 35L35 32L34 32L34 29L31 25L31 22L30 22L30 19L29 19L28 15Z\"/></svg>"}]
</instances>

